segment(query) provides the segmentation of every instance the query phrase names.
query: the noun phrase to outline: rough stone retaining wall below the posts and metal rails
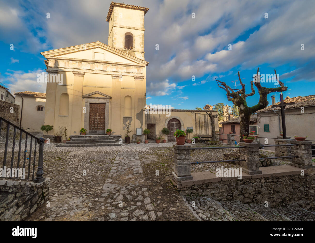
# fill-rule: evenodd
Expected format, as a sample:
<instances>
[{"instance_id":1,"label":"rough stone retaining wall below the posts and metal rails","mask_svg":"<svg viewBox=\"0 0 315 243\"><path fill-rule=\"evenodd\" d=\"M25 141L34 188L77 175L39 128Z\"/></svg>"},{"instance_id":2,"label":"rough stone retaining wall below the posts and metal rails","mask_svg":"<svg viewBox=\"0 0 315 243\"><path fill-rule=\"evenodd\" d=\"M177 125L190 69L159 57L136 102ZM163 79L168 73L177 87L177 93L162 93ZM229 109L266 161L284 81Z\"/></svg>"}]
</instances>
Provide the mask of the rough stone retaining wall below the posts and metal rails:
<instances>
[{"instance_id":1,"label":"rough stone retaining wall below the posts and metal rails","mask_svg":"<svg viewBox=\"0 0 315 243\"><path fill-rule=\"evenodd\" d=\"M243 203L285 207L295 204L306 210L315 210L315 170L304 176L284 175L252 179L231 179L193 185L181 189L183 196L212 196L215 200L238 200Z\"/></svg>"}]
</instances>

